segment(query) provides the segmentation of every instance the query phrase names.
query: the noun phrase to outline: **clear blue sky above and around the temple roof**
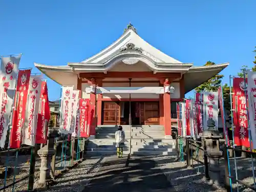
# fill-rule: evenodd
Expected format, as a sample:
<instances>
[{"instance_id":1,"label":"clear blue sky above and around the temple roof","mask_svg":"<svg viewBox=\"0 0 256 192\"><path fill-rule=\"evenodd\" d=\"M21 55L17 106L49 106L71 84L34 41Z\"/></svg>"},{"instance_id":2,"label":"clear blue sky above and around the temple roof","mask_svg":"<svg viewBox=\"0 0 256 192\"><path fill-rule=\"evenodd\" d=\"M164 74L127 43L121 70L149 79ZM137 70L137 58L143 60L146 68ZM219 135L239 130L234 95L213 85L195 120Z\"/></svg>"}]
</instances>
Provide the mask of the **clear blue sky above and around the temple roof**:
<instances>
[{"instance_id":1,"label":"clear blue sky above and around the temple roof","mask_svg":"<svg viewBox=\"0 0 256 192\"><path fill-rule=\"evenodd\" d=\"M144 40L182 62L229 61L228 82L241 66L253 66L255 7L254 0L2 0L0 55L23 53L20 68L79 62L109 46L131 21ZM58 99L60 86L49 80L48 87L50 100Z\"/></svg>"}]
</instances>

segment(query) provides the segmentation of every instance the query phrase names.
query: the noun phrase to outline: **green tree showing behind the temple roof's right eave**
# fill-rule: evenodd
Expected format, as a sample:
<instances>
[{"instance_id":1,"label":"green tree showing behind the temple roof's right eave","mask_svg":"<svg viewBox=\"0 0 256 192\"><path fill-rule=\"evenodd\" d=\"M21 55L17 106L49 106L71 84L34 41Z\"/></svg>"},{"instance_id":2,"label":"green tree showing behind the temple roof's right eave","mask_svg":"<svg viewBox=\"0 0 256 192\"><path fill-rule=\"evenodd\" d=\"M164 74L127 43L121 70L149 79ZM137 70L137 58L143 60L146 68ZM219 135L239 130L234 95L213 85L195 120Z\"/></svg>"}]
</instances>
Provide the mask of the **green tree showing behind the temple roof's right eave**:
<instances>
[{"instance_id":1,"label":"green tree showing behind the temple roof's right eave","mask_svg":"<svg viewBox=\"0 0 256 192\"><path fill-rule=\"evenodd\" d=\"M204 66L215 65L214 62L207 61ZM221 81L224 75L217 74L214 77L210 78L208 81L204 82L198 86L195 90L196 92L203 91L218 91L218 87L221 86Z\"/></svg>"}]
</instances>

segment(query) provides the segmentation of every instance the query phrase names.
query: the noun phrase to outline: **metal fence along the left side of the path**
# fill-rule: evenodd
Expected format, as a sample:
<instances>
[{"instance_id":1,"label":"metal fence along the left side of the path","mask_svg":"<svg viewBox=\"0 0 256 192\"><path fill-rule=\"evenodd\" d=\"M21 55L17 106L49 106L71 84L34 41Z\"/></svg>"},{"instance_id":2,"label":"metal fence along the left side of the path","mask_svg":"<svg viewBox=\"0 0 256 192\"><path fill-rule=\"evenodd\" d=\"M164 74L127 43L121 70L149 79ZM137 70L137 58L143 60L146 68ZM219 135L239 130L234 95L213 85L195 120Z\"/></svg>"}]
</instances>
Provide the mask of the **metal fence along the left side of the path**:
<instances>
[{"instance_id":1,"label":"metal fence along the left side of the path","mask_svg":"<svg viewBox=\"0 0 256 192\"><path fill-rule=\"evenodd\" d=\"M55 138L55 154L52 156L50 170L52 181L84 160L86 143L84 138ZM24 191L33 190L40 172L41 159L37 154L39 148L39 145L22 146L0 151L0 191L16 191L17 185L22 185Z\"/></svg>"}]
</instances>

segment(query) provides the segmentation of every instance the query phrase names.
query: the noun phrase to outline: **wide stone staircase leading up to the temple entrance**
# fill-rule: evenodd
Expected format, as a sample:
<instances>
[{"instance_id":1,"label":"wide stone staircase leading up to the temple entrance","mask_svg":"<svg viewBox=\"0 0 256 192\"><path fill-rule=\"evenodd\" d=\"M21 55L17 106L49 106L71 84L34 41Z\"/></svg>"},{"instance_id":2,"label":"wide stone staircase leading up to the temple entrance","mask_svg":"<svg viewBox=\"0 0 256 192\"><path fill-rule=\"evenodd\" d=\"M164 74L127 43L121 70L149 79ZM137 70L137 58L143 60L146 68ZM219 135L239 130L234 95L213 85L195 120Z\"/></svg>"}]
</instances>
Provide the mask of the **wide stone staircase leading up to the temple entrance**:
<instances>
[{"instance_id":1,"label":"wide stone staircase leading up to the temple entrance","mask_svg":"<svg viewBox=\"0 0 256 192\"><path fill-rule=\"evenodd\" d=\"M116 155L115 132L117 126L101 125L96 129L95 139L90 139L87 154L92 156ZM123 125L125 133L124 154L129 154L130 136L132 155L176 155L175 140L165 139L164 127L161 125L130 126Z\"/></svg>"}]
</instances>

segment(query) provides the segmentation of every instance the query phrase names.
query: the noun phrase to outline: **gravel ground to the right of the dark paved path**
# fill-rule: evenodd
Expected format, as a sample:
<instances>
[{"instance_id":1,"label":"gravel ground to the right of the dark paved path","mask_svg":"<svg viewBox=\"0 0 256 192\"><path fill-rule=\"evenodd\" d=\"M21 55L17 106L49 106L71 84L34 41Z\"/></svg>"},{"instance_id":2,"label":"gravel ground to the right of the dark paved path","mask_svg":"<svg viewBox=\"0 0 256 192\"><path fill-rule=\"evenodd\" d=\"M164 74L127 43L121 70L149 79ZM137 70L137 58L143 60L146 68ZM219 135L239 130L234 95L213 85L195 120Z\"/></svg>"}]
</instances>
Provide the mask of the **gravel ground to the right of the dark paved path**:
<instances>
[{"instance_id":1,"label":"gravel ground to the right of the dark paved path","mask_svg":"<svg viewBox=\"0 0 256 192\"><path fill-rule=\"evenodd\" d=\"M204 178L204 166L193 161L195 168L186 168L186 162L175 162L175 157L157 157L155 161L163 170L164 174L174 186L174 191L226 191L224 189L224 163L221 160L221 174L219 177L219 185L211 185L209 181ZM254 165L256 166L256 165ZM251 160L237 158L238 178L247 184L253 185ZM234 159L230 159L231 176L235 177ZM239 186L239 190L237 190ZM251 192L253 190L243 187L242 185L232 184L233 191Z\"/></svg>"}]
</instances>

